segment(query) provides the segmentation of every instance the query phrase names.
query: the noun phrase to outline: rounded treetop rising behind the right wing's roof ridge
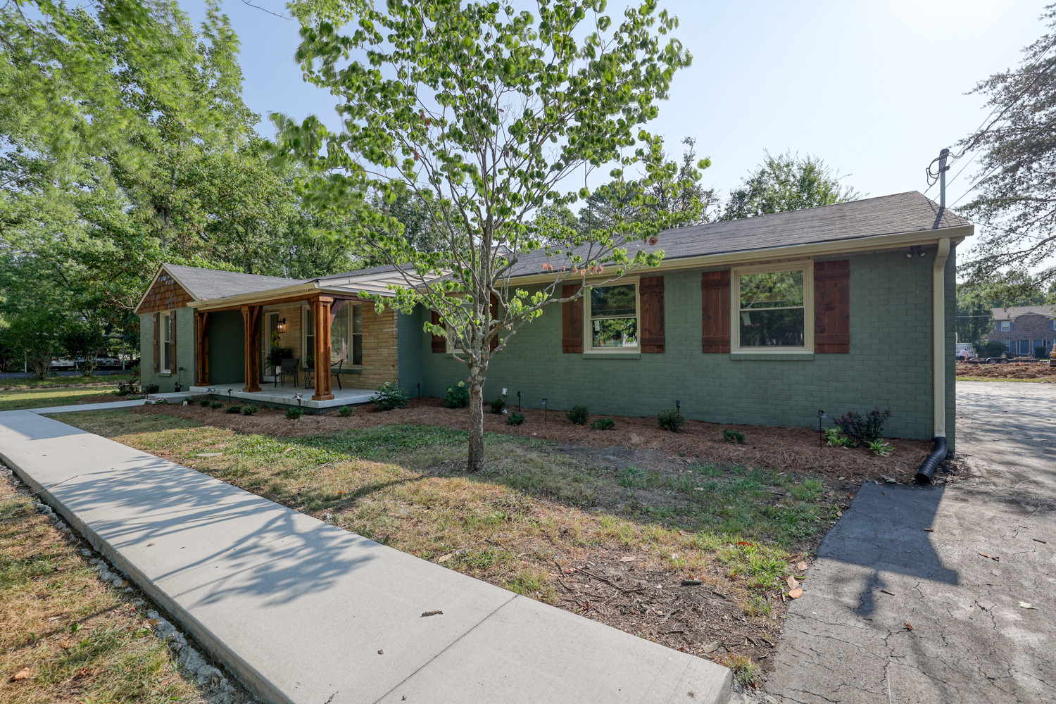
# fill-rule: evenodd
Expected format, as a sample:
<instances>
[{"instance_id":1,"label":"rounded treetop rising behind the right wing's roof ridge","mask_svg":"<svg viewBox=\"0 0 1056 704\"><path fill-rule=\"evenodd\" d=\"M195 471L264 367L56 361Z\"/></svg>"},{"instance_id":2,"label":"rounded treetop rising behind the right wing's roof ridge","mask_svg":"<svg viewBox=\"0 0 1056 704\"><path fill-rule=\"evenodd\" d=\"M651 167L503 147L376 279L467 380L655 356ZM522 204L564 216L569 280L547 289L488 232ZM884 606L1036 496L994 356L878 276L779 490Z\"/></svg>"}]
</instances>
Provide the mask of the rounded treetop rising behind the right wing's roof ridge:
<instances>
[{"instance_id":1,"label":"rounded treetop rising behind the right wing's roof ridge","mask_svg":"<svg viewBox=\"0 0 1056 704\"><path fill-rule=\"evenodd\" d=\"M840 183L842 179L838 171L833 172L816 156L799 157L791 152L775 156L768 151L755 172L730 192L721 220L802 210L860 198L857 191Z\"/></svg>"}]
</instances>

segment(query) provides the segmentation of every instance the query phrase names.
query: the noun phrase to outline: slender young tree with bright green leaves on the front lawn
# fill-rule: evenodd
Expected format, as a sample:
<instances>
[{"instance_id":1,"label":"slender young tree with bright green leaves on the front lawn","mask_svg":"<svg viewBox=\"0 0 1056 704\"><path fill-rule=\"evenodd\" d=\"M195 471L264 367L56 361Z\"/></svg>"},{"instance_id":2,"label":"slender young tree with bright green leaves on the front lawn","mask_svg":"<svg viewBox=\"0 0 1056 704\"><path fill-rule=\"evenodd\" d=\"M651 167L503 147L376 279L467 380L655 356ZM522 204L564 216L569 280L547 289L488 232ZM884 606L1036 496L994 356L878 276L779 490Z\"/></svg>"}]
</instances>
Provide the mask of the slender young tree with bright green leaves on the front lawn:
<instances>
[{"instance_id":1,"label":"slender young tree with bright green leaves on the front lawn","mask_svg":"<svg viewBox=\"0 0 1056 704\"><path fill-rule=\"evenodd\" d=\"M604 165L618 167L618 182L623 169L642 165L639 205L657 184L678 188L677 169L642 128L691 60L670 37L677 20L655 0L629 7L618 26L603 12L604 0L538 0L533 13L509 0L391 0L384 13L363 12L346 35L325 21L304 26L305 77L338 98L342 131L314 117L301 125L274 117L280 152L331 173L317 197L348 210L359 248L402 265L407 286L394 305L435 310L438 322L426 328L460 350L470 471L484 464L492 357L545 306L582 296L582 287L564 294L565 282L658 264L657 233L681 222L662 214L543 233L532 217L587 197L586 188L566 184ZM417 249L396 218L370 208L367 193L416 199L442 251ZM628 251L643 241L653 246ZM553 277L532 289L512 279L529 272Z\"/></svg>"}]
</instances>

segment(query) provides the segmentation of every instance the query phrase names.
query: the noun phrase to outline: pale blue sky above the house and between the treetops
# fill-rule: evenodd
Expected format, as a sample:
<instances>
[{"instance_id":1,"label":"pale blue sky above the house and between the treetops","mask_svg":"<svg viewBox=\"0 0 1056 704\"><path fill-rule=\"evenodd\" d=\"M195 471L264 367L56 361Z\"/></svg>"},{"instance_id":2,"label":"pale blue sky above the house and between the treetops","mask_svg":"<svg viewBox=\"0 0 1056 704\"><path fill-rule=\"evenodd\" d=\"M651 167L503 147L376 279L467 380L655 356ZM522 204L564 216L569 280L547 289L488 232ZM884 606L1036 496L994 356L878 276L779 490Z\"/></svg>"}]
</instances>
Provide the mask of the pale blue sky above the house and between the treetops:
<instances>
[{"instance_id":1,"label":"pale blue sky above the house and between the treetops","mask_svg":"<svg viewBox=\"0 0 1056 704\"><path fill-rule=\"evenodd\" d=\"M252 1L283 12L277 0ZM197 2L183 4L201 18ZM609 0L608 14L618 17L620 5ZM661 6L679 17L676 36L694 60L675 78L650 129L673 148L696 137L698 154L713 161L703 184L723 194L765 149L819 156L869 195L924 191L924 168L939 149L973 132L989 112L982 96L965 93L1018 63L1020 50L1044 31L1037 19L1043 2L1027 0L661 0ZM333 98L303 82L294 61L299 25L239 0L227 0L224 11L242 39L249 107L297 119L314 113L333 125ZM266 119L260 131L274 134ZM975 166L951 180L948 204L965 194ZM935 187L928 195L938 199L937 193ZM960 203L968 199L970 193Z\"/></svg>"}]
</instances>

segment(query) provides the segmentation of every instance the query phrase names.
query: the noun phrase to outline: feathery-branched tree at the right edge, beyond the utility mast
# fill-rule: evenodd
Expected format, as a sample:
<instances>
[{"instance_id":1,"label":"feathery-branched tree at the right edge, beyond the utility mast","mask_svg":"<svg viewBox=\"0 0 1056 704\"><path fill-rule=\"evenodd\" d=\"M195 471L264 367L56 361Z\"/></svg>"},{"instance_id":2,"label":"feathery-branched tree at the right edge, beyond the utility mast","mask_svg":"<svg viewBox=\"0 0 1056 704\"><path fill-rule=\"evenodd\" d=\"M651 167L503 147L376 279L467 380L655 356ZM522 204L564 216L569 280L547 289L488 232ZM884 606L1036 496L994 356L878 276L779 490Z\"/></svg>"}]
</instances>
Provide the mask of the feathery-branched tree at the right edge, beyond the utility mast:
<instances>
[{"instance_id":1,"label":"feathery-branched tree at the right edge, beyond the utility mast","mask_svg":"<svg viewBox=\"0 0 1056 704\"><path fill-rule=\"evenodd\" d=\"M964 211L982 225L975 258L961 273L1000 293L995 274L1030 275L1045 289L1056 282L1056 4L1041 19L1048 32L1023 49L1019 68L996 73L975 92L987 96L994 119L963 139L978 148L978 195Z\"/></svg>"}]
</instances>

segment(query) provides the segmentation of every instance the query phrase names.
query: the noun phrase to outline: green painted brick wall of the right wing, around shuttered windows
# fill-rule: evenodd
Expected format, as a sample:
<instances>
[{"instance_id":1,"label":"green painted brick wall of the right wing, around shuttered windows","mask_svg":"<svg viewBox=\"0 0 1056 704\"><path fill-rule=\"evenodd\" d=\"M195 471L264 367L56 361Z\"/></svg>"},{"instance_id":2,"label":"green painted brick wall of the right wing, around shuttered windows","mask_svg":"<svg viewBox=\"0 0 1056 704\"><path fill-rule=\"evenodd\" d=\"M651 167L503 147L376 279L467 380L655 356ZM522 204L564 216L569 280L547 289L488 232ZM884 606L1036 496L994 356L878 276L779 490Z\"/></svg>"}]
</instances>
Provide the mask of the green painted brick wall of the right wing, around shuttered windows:
<instances>
[{"instance_id":1,"label":"green painted brick wall of the right wing, around shuttered windows","mask_svg":"<svg viewBox=\"0 0 1056 704\"><path fill-rule=\"evenodd\" d=\"M736 359L700 350L700 270L665 274L664 354L597 358L561 351L561 306L548 306L491 362L485 398L509 388L507 401L551 410L585 404L591 413L653 416L681 401L689 418L723 423L817 427L817 412L890 407L888 437L932 437L931 267L927 256L904 251L833 256L850 260L851 351L808 359ZM947 438L954 445L955 256L946 264ZM466 379L450 355L432 353L430 336L417 339L422 393L442 396ZM403 344L400 345L401 350ZM404 384L404 387L407 384ZM410 392L410 389L409 389ZM830 420L828 424L831 425Z\"/></svg>"}]
</instances>

